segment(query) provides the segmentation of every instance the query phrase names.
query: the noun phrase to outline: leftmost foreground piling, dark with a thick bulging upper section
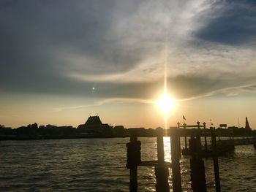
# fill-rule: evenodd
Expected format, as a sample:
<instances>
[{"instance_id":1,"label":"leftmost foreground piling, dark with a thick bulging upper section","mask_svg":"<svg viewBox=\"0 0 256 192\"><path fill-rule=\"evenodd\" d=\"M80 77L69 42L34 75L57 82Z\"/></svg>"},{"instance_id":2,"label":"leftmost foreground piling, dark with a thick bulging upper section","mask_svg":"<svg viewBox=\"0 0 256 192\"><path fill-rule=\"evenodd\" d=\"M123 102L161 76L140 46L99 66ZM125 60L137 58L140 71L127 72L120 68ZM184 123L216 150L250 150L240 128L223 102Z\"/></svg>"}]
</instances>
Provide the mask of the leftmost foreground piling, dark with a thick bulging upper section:
<instances>
[{"instance_id":1,"label":"leftmost foreground piling, dark with a thick bulging upper section","mask_svg":"<svg viewBox=\"0 0 256 192\"><path fill-rule=\"evenodd\" d=\"M129 191L138 192L138 165L140 159L140 141L135 134L131 134L127 143L127 169L129 169Z\"/></svg>"}]
</instances>

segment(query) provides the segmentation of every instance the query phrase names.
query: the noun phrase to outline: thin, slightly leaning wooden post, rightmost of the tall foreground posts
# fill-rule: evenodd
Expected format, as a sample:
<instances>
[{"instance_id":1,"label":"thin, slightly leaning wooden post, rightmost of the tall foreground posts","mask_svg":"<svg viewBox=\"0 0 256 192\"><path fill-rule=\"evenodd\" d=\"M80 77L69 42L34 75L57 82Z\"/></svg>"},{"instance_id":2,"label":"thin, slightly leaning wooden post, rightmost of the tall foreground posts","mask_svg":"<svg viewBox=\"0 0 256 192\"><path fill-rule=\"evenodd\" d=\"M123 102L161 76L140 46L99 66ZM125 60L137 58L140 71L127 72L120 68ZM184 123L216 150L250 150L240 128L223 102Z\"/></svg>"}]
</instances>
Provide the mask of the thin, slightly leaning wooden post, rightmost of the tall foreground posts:
<instances>
[{"instance_id":1,"label":"thin, slightly leaning wooden post, rightmost of the tall foreground posts","mask_svg":"<svg viewBox=\"0 0 256 192\"><path fill-rule=\"evenodd\" d=\"M214 128L211 128L211 142L212 142L212 153L214 160L214 177L215 177L215 189L216 191L220 191L220 182L219 182L219 162L217 156L217 144L216 144L216 136Z\"/></svg>"}]
</instances>

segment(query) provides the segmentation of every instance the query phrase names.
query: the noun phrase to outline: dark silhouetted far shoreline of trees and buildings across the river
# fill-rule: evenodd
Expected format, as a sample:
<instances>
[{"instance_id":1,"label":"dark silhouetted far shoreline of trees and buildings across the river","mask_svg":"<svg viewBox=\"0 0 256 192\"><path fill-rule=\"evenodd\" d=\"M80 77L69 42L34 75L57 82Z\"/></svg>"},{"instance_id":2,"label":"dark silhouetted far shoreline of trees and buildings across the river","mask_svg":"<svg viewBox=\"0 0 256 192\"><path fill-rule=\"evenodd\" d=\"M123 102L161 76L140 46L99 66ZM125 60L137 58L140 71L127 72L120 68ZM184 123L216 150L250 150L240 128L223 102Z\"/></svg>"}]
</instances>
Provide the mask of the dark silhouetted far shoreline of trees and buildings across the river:
<instances>
[{"instance_id":1,"label":"dark silhouetted far shoreline of trees and buildings across the river","mask_svg":"<svg viewBox=\"0 0 256 192\"><path fill-rule=\"evenodd\" d=\"M249 121L246 118L246 127L229 126L228 128L222 126L217 128L217 137L253 137L256 136L256 130L252 130L249 126ZM197 127L197 125L195 125ZM204 126L203 133L205 137L209 137L211 132ZM181 137L185 137L185 148L187 148L187 132L190 132L191 126L180 125ZM0 140L12 140L12 139L69 139L69 138L97 138L97 137L129 137L133 131L136 131L138 137L155 137L156 131L159 128L124 128L124 126L110 126L107 123L102 123L99 116L90 116L86 123L81 124L78 128L72 126L54 126L54 125L41 125L37 123L31 123L27 126L20 126L18 128L10 128L0 124ZM232 133L232 134L230 134ZM164 131L164 136L168 137L170 134ZM236 144L235 144L236 145ZM205 150L208 150L208 146L205 145ZM226 148L226 147L225 147Z\"/></svg>"}]
</instances>

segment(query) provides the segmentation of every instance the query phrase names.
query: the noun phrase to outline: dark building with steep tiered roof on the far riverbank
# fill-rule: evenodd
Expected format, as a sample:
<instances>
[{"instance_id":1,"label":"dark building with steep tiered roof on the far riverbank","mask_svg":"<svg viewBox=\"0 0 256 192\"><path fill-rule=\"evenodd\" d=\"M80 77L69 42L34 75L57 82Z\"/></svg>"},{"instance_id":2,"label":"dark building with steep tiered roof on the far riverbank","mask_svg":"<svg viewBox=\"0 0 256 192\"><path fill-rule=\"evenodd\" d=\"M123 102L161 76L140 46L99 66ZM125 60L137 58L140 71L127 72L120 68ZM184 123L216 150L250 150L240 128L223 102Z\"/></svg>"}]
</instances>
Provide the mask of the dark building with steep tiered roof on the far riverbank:
<instances>
[{"instance_id":1,"label":"dark building with steep tiered roof on the far riverbank","mask_svg":"<svg viewBox=\"0 0 256 192\"><path fill-rule=\"evenodd\" d=\"M111 127L107 123L102 123L98 115L90 116L86 123L78 126L78 129L91 134L110 134L112 132Z\"/></svg>"}]
</instances>

